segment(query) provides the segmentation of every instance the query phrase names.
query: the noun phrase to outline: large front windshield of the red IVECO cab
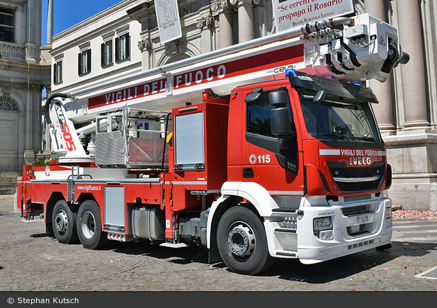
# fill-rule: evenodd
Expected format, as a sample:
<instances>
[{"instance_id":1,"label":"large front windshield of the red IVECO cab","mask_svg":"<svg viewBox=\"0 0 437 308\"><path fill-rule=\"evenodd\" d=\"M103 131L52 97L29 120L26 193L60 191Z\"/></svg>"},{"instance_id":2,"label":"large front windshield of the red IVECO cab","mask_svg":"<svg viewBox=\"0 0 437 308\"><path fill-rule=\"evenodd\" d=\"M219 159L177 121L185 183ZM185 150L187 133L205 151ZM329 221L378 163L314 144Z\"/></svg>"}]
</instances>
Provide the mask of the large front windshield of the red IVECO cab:
<instances>
[{"instance_id":1,"label":"large front windshield of the red IVECO cab","mask_svg":"<svg viewBox=\"0 0 437 308\"><path fill-rule=\"evenodd\" d=\"M367 102L325 99L314 103L311 97L302 98L300 104L309 135L320 141L382 142Z\"/></svg>"}]
</instances>

